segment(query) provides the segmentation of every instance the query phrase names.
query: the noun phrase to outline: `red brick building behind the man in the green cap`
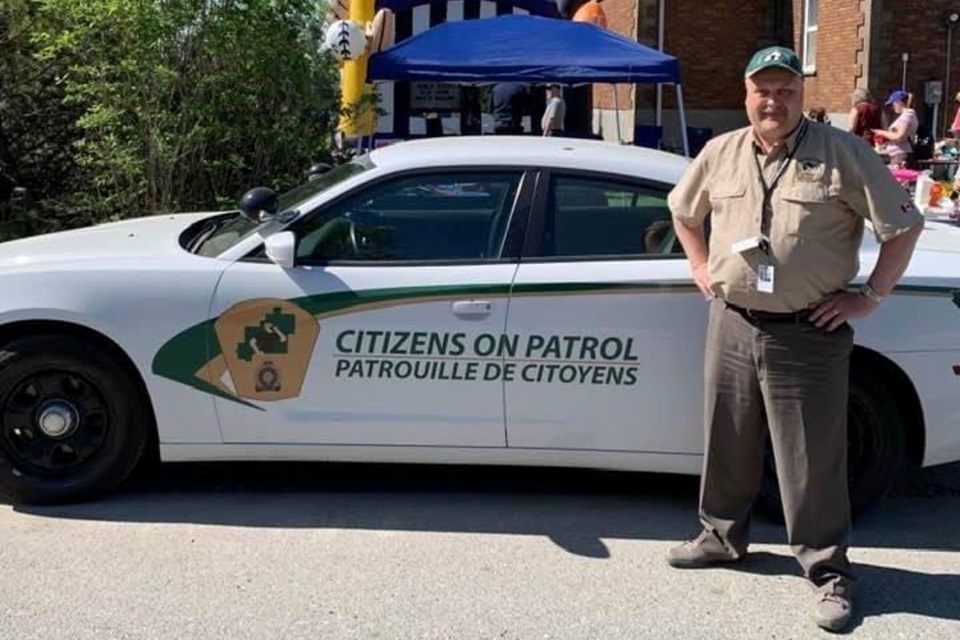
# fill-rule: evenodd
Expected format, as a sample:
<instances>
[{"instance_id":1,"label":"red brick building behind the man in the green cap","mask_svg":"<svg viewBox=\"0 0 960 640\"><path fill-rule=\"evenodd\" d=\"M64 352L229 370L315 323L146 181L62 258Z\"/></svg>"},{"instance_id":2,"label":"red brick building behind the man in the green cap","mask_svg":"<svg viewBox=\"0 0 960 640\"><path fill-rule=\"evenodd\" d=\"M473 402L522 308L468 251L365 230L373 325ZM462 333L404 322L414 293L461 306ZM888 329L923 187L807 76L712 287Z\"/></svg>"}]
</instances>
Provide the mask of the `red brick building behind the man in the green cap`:
<instances>
[{"instance_id":1,"label":"red brick building behind the man in the green cap","mask_svg":"<svg viewBox=\"0 0 960 640\"><path fill-rule=\"evenodd\" d=\"M949 16L955 10L960 19L960 0L909 6L893 0L606 0L603 6L610 29L651 46L662 38L664 50L679 58L690 126L720 132L746 124L743 67L768 44L792 46L800 54L807 69L805 107L825 107L836 126L846 126L856 87L883 100L903 85L914 94L921 121L938 132L957 108L960 43ZM928 83L940 83L939 103L927 91L936 86ZM654 122L655 93L620 88L621 132L632 135L634 124ZM664 136L675 144L672 92L664 91L663 98ZM594 107L596 126L615 137L612 88L595 87Z\"/></svg>"}]
</instances>

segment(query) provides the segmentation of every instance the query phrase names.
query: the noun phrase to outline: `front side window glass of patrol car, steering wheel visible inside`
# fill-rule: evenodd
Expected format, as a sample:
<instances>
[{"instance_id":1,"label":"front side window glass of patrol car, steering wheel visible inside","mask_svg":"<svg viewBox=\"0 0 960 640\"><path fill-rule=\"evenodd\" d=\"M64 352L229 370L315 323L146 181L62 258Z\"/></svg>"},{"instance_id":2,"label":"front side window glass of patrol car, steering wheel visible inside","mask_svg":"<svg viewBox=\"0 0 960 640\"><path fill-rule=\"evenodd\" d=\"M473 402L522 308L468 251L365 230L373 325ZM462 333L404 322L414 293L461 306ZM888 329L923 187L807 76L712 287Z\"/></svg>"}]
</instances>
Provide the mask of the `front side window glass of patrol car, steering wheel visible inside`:
<instances>
[{"instance_id":1,"label":"front side window glass of patrol car, steering wheel visible inside","mask_svg":"<svg viewBox=\"0 0 960 640\"><path fill-rule=\"evenodd\" d=\"M520 171L416 174L362 188L298 233L301 261L481 260L499 255Z\"/></svg>"}]
</instances>

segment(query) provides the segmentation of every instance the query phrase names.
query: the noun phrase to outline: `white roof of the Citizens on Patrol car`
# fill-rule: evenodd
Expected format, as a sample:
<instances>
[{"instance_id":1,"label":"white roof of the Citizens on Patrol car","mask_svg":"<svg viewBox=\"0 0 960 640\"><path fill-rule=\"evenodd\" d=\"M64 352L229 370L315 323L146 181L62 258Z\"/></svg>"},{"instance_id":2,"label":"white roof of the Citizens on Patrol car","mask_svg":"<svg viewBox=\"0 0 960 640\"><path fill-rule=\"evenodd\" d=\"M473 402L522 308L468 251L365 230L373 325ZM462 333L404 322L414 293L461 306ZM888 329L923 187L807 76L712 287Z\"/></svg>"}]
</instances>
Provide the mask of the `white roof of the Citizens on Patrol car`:
<instances>
[{"instance_id":1,"label":"white roof of the Citizens on Patrol car","mask_svg":"<svg viewBox=\"0 0 960 640\"><path fill-rule=\"evenodd\" d=\"M680 179L689 160L655 149L602 140L543 136L450 136L398 142L370 154L377 167L402 171L449 165L576 168L643 177Z\"/></svg>"}]
</instances>

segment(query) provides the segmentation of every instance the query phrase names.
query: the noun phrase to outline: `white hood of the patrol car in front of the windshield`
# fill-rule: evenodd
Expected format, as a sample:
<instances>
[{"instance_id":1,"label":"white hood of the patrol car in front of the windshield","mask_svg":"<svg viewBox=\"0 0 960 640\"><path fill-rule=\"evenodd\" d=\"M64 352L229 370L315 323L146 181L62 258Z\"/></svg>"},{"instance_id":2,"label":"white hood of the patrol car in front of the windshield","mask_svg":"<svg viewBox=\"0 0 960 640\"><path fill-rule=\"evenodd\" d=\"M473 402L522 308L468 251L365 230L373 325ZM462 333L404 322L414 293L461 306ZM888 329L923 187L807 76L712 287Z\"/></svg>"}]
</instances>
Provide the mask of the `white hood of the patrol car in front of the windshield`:
<instances>
[{"instance_id":1,"label":"white hood of the patrol car in front of the windshield","mask_svg":"<svg viewBox=\"0 0 960 640\"><path fill-rule=\"evenodd\" d=\"M180 234L222 212L180 213L109 222L0 244L0 266L181 253Z\"/></svg>"}]
</instances>

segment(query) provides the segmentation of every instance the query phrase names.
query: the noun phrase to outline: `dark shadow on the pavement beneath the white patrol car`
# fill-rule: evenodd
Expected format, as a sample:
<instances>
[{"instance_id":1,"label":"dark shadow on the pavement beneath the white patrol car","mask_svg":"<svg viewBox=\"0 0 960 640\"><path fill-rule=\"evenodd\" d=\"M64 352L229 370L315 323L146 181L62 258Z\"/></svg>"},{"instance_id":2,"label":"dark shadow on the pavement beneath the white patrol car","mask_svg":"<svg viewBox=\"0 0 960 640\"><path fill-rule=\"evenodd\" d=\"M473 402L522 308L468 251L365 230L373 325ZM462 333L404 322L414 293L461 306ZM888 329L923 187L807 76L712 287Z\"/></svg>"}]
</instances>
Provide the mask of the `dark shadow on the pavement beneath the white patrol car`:
<instances>
[{"instance_id":1,"label":"dark shadow on the pavement beneath the white patrol car","mask_svg":"<svg viewBox=\"0 0 960 640\"><path fill-rule=\"evenodd\" d=\"M925 470L858 518L853 544L960 550L960 483L951 484L960 466L945 469L944 482L942 470ZM183 463L141 473L100 501L16 510L117 522L537 535L606 557L605 538L695 535L698 482L579 469ZM758 517L753 541L782 544L785 534Z\"/></svg>"}]
</instances>

